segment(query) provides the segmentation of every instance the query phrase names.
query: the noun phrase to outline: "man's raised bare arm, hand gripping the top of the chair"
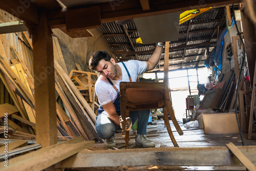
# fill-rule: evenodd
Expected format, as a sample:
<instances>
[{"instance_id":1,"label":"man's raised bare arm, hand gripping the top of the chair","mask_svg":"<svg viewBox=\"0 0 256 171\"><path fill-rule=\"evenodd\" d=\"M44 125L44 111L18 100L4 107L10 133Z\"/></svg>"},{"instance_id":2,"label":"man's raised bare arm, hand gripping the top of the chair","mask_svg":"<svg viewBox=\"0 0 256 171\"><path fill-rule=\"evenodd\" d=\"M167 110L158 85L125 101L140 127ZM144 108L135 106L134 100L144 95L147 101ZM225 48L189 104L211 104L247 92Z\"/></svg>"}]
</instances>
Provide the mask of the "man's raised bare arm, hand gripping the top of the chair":
<instances>
[{"instance_id":1,"label":"man's raised bare arm, hand gripping the top of the chair","mask_svg":"<svg viewBox=\"0 0 256 171\"><path fill-rule=\"evenodd\" d=\"M161 46L164 45L164 43L162 43L162 42L160 44L161 44ZM156 66L160 60L162 51L163 51L163 47L160 47L159 45L157 45L155 52L153 53L151 58L148 61L146 61L146 70L145 71L151 71L154 68L156 68Z\"/></svg>"}]
</instances>

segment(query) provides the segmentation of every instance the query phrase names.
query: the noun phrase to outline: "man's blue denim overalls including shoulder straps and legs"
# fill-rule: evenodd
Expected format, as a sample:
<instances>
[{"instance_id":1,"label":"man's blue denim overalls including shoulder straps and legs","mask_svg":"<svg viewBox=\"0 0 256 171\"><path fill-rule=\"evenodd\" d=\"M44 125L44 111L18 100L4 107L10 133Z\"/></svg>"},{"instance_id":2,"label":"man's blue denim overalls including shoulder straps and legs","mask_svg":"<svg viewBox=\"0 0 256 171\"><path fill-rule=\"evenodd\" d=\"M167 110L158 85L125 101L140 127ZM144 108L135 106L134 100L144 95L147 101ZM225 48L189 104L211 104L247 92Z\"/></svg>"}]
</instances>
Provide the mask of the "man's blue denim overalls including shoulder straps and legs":
<instances>
[{"instance_id":1,"label":"man's blue denim overalls including shoulder straps and legs","mask_svg":"<svg viewBox=\"0 0 256 171\"><path fill-rule=\"evenodd\" d=\"M123 62L121 62L128 74L131 78L129 71L127 70L126 66ZM113 85L112 81L108 79L109 82ZM131 79L130 79L131 81ZM117 114L120 116L120 94L117 93L117 97L113 102L116 108ZM148 117L150 115L150 110L143 110L143 111L131 111L130 118L132 119L132 123L135 123L138 119L138 134L146 134L146 126L148 122ZM99 106L98 109L98 116L96 117L96 131L100 138L102 139L109 139L115 135L115 132L121 130L120 125L116 125L110 118L109 115L104 111L102 106Z\"/></svg>"}]
</instances>

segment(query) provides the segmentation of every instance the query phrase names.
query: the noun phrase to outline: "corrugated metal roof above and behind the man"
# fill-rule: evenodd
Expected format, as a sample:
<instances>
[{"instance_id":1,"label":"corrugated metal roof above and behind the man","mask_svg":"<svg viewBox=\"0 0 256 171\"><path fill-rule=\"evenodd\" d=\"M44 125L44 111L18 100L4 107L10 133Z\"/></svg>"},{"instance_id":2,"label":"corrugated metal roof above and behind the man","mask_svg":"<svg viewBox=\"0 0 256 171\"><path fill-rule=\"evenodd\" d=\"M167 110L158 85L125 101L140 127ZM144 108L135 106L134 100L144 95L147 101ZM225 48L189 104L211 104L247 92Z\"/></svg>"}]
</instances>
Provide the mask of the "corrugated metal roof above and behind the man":
<instances>
[{"instance_id":1,"label":"corrugated metal roof above and behind the man","mask_svg":"<svg viewBox=\"0 0 256 171\"><path fill-rule=\"evenodd\" d=\"M188 20L179 26L179 40L170 42L169 44L169 70L204 66L204 61L207 58L207 56L204 56L206 51L206 45L204 44L212 42L212 44L209 45L209 51L214 49L218 33L220 35L226 26L223 15L224 8L211 9L192 18L190 20L190 25ZM156 48L156 45L138 44L136 42L136 38L138 38L140 35L133 20L125 25L134 49L131 45L129 37L125 34L123 28L124 26L119 25L116 22L102 23L100 31L106 41L109 42L112 51L140 52L137 54L138 59L141 61L148 60L153 52L145 53L145 51ZM189 47L185 48L185 44L187 46L189 45ZM192 45L195 45L195 47ZM182 48L174 49L178 46L182 46ZM115 54L115 56L118 61L136 59L135 54ZM163 59L164 51L162 53L159 65L153 71L163 71Z\"/></svg>"}]
</instances>

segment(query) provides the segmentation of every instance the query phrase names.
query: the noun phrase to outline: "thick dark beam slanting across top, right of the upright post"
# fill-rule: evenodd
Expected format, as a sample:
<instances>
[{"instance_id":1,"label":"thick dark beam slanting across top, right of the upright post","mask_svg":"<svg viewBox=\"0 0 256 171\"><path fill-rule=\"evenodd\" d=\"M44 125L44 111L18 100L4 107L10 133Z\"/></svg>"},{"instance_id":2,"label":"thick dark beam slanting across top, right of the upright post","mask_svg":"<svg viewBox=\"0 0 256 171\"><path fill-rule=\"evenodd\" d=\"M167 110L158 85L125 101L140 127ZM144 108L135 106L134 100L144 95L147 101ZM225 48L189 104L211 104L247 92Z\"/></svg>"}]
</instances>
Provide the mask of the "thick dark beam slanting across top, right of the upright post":
<instances>
[{"instance_id":1,"label":"thick dark beam slanting across top, right of the upright post","mask_svg":"<svg viewBox=\"0 0 256 171\"><path fill-rule=\"evenodd\" d=\"M7 0L5 0L7 1ZM17 1L17 0L16 0ZM241 3L241 0L204 0L202 2L187 0L187 1L152 1L150 10L143 11L139 1L115 1L115 3L106 2L95 5L81 6L80 8L98 6L101 12L101 22L115 22L117 20L132 19L138 17L167 14L173 12L181 12L191 9L214 7L227 4ZM68 8L74 9L74 8ZM75 9L79 10L79 9ZM67 10L51 10L49 11L49 26L57 28L59 25L65 25L65 13ZM84 13L88 13L84 11ZM90 14L88 13L88 16Z\"/></svg>"}]
</instances>

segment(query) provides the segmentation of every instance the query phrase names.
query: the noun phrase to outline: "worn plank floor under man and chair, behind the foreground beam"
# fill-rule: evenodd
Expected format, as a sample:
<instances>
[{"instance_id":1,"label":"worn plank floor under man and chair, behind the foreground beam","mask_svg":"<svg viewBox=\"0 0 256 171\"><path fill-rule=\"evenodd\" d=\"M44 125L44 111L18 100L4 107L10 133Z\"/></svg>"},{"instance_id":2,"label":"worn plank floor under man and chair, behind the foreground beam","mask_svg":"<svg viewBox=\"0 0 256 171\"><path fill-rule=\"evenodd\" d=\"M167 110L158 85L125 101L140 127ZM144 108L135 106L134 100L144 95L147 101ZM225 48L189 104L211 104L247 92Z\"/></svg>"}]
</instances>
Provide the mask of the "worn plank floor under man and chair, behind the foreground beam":
<instances>
[{"instance_id":1,"label":"worn plank floor under man and chair, behind the foreground beam","mask_svg":"<svg viewBox=\"0 0 256 171\"><path fill-rule=\"evenodd\" d=\"M153 122L154 125L148 125L147 137L155 142L156 147L174 147L170 137L167 133L166 127L164 127L163 120L157 120ZM182 121L178 120L181 126L183 135L180 136L173 122L170 121L170 125L173 130L175 139L180 147L206 147L206 146L225 146L227 143L232 142L234 145L242 146L242 140L239 134L237 135L205 135L202 129L186 129L183 126ZM254 135L254 134L253 134ZM124 149L125 143L121 136L121 133L116 133L116 148ZM243 135L244 145L256 145L255 136L252 136L252 140L247 139L247 134ZM129 148L141 148L135 145L135 136L133 132L130 132ZM91 149L108 149L104 147L104 143L95 143Z\"/></svg>"}]
</instances>

